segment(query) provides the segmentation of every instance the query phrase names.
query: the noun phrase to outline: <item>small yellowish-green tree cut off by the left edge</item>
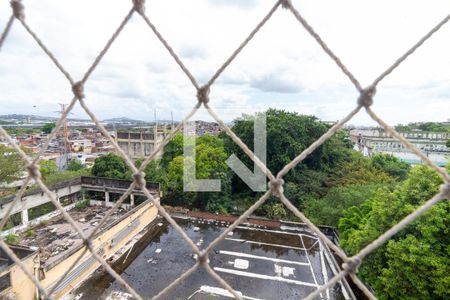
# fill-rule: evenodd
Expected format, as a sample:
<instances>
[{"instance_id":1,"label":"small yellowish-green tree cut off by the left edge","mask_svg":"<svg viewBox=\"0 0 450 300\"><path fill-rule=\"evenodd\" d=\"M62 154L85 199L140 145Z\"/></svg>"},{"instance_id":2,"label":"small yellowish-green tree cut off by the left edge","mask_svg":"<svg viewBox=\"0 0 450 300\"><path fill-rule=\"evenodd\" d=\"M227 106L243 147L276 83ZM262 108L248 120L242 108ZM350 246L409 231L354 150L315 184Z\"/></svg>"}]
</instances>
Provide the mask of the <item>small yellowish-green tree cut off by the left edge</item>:
<instances>
[{"instance_id":1,"label":"small yellowish-green tree cut off by the left edge","mask_svg":"<svg viewBox=\"0 0 450 300\"><path fill-rule=\"evenodd\" d=\"M0 182L20 179L24 166L24 161L13 148L0 145Z\"/></svg>"}]
</instances>

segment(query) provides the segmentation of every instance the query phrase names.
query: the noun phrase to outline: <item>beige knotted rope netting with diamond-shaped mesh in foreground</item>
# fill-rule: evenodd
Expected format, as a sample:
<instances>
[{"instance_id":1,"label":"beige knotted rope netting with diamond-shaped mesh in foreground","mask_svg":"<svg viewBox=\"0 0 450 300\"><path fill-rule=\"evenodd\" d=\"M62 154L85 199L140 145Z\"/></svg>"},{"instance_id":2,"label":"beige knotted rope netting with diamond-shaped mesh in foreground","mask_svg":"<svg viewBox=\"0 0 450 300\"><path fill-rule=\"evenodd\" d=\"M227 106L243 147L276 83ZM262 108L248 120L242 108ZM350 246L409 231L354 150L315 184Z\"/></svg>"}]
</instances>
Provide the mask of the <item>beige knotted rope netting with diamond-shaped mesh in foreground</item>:
<instances>
[{"instance_id":1,"label":"beige knotted rope netting with diamond-shaped mesh in foreground","mask_svg":"<svg viewBox=\"0 0 450 300\"><path fill-rule=\"evenodd\" d=\"M444 169L441 169L440 167L436 166L433 162L429 160L429 158L424 155L419 149L417 149L414 145L412 145L410 142L408 142L402 135L400 135L398 132L396 132L392 127L390 127L387 123L385 123L372 109L371 105L374 101L374 95L376 91L376 86L378 83L380 83L381 80L383 80L387 75L389 75L395 68L397 68L409 55L414 53L415 50L417 50L425 41L427 41L435 32L437 32L445 23L447 23L450 19L450 15L445 17L441 22L439 22L434 28L432 28L425 36L423 36L415 45L413 45L405 54L403 54L400 58L398 58L385 72L383 72L380 76L378 76L371 85L369 85L366 88L363 88L358 80L353 76L353 74L345 67L345 65L341 62L339 57L337 57L332 50L327 46L327 44L321 39L321 37L314 31L313 27L309 25L306 20L302 17L300 12L292 5L290 0L278 0L275 2L274 6L270 9L270 11L267 13L267 15L256 25L256 27L252 30L252 32L248 35L248 37L239 45L239 47L232 53L232 55L225 61L225 63L222 64L222 66L214 73L214 75L209 79L209 81L203 85L200 86L194 76L191 74L191 72L186 68L186 66L183 64L183 62L180 60L180 58L177 56L177 54L174 52L174 50L170 47L169 43L165 40L165 38L159 33L157 28L152 24L151 20L147 17L145 14L145 1L144 0L133 0L132 6L130 11L126 14L123 21L120 23L118 28L114 31L111 38L106 43L105 47L100 51L100 53L95 58L92 65L89 67L89 69L86 71L84 76L79 81L75 81L69 72L67 72L62 64L58 61L58 59L53 55L53 53L46 47L45 43L41 41L38 37L38 35L28 26L26 20L25 20L25 13L24 13L24 5L20 0L12 0L11 1L11 8L12 8L12 15L9 18L6 27L4 28L1 36L0 36L0 49L3 43L5 42L8 32L11 29L11 26L13 23L17 22L20 25L22 25L25 30L31 35L31 37L38 43L39 47L42 49L42 51L45 52L45 54L50 58L50 60L56 65L56 67L61 71L61 73L64 75L64 77L69 81L70 85L72 86L72 92L74 94L73 98L70 101L70 104L65 108L63 111L61 117L56 123L56 127L53 129L53 131L50 133L50 136L48 138L47 143L42 147L38 155L34 158L29 157L25 152L21 150L21 148L16 145L13 141L11 136L8 135L8 133L0 126L0 134L3 135L6 140L14 147L14 149L20 154L20 156L26 161L27 163L27 170L28 170L28 177L25 180L25 183L23 187L19 190L17 193L15 200L13 203L9 206L8 212L6 213L5 217L3 218L2 222L0 222L0 228L3 228L5 225L6 220L9 218L10 213L14 207L15 204L17 204L18 201L23 196L23 193L25 192L25 187L27 186L28 182L31 180L34 180L38 186L42 189L43 193L46 194L46 196L51 200L51 202L56 206L56 208L61 212L62 216L67 220L71 226L76 230L78 235L81 237L81 239L84 242L84 252L79 256L79 259L83 257L83 255L89 251L90 255L92 255L95 260L97 260L104 268L105 270L120 284L122 284L129 293L131 293L136 299L142 299L142 297L119 275L117 274L109 265L106 263L106 261L96 252L96 249L94 249L91 239L97 233L99 228L106 222L106 220L118 209L118 207L121 205L121 203L130 195L130 193L133 191L134 188L140 188L142 192L145 194L145 196L150 199L153 204L158 208L159 213L174 227L176 232L180 235L181 238L183 238L189 246L192 248L195 254L197 254L197 262L196 264L191 267L189 270L187 270L185 273L183 273L180 277L178 277L175 281L170 283L166 288L164 288L162 291L160 291L154 298L158 299L161 298L163 295L166 294L169 290L171 290L174 286L178 285L180 282L182 282L185 278L187 278L190 274L192 274L197 268L203 267L217 282L224 288L226 288L236 299L241 299L241 296L233 290L233 288L227 284L209 265L208 261L208 253L210 250L217 245L221 240L223 240L226 235L234 230L239 224L245 221L250 214L252 214L258 207L260 207L271 195L277 196L282 203L284 203L289 210L291 210L297 217L299 217L309 228L310 230L316 234L321 242L325 243L328 247L330 247L340 258L343 260L342 269L338 272L337 275L335 275L333 278L331 278L328 282L326 282L324 285L317 287L317 290L312 292L306 299L314 299L315 297L319 296L322 292L324 292L326 289L334 286L337 282L342 280L343 277L349 275L356 285L366 294L366 296L370 299L375 299L374 295L371 294L371 292L364 286L364 284L358 279L356 276L356 273L358 271L358 267L361 264L364 257L366 257L369 253L374 251L376 248L381 246L383 243L388 241L393 235L395 235L397 232L402 230L404 227L406 227L408 224L413 222L415 219L417 219L421 214L426 212L428 209L430 209L434 204L438 203L439 201L443 199L450 198L450 177L445 172ZM219 115L217 115L214 110L208 105L209 101L209 89L214 84L214 82L217 80L217 78L222 74L222 72L230 65L230 63L236 58L236 56L241 52L243 48L246 47L246 45L252 40L252 38L258 33L258 31L264 26L264 24L271 18L271 16L280 9L280 7L290 11L293 16L299 21L299 23L303 26L303 28L319 43L323 51L328 54L328 56L337 64L337 66L342 70L342 72L349 78L351 83L355 86L357 91L359 92L359 97L357 99L356 107L347 115L345 116L341 121L336 123L334 126L332 126L325 134L323 134L318 140L316 140L313 144L311 144L307 149L305 149L302 153L300 153L294 160L292 160L289 164L287 164L276 176L272 174L272 172L265 166L264 163L262 163L254 154L253 152L245 145L238 136L236 136L231 128L229 128L220 118ZM96 116L92 111L89 109L85 102L86 95L83 91L83 86L89 80L90 75L95 70L95 68L98 66L98 64L101 62L103 56L108 52L111 45L114 43L115 39L120 35L122 32L122 29L127 25L128 21L131 19L133 15L137 14L138 16L142 17L145 21L145 23L149 26L150 30L157 36L159 41L164 45L164 47L167 49L167 51L170 53L172 58L175 60L175 63L178 64L178 66L182 69L182 71L186 74L186 76L190 79L192 85L197 90L197 103L194 105L192 111L184 118L182 122L179 123L179 125L172 130L170 134L166 136L164 141L156 147L154 152L145 159L145 161L142 163L142 165L137 168L132 160L127 156L127 154L117 145L115 140L109 135L108 131L105 129L105 127L97 120ZM39 172L37 163L39 161L40 156L43 154L43 152L47 149L49 142L52 140L52 138L55 136L56 132L59 130L61 125L63 124L65 118L69 114L69 112L72 110L76 102L80 103L81 107L86 111L86 113L89 115L89 117L92 119L92 121L96 124L96 126L101 130L104 136L106 136L111 144L114 146L115 150L119 153L121 157L126 161L128 167L133 172L133 182L128 188L128 190L120 197L120 199L115 203L114 207L107 213L105 218L97 225L95 230L90 235L85 235L81 229L77 226L77 224L74 222L74 220L70 217L70 215L63 209L61 204L57 201L57 199L52 195L50 190L47 188L47 186L44 184L41 174ZM261 168L267 178L270 180L270 187L268 191L258 200L256 201L247 211L245 211L231 226L229 226L224 232L222 232L211 244L206 247L204 250L200 250L195 243L187 236L187 234L183 231L183 229L174 221L174 219L166 212L166 210L159 204L158 199L155 199L145 185L145 179L144 179L144 173L143 170L145 167L152 161L157 153L175 136L177 132L180 131L182 124L189 120L190 117L201 107L204 106L208 113L220 124L221 128L232 138L232 140L239 145L240 148L255 162L255 164ZM376 240L371 242L369 245L364 247L358 254L354 255L353 257L347 257L347 255L340 249L338 246L336 246L330 239L328 239L311 221L308 220L305 215L299 211L290 201L286 198L286 196L283 193L283 177L297 164L299 164L301 161L303 161L309 154L311 154L315 149L317 149L320 145L322 145L325 141L327 141L331 136L333 136L346 122L348 122L354 115L356 115L361 109L365 109L365 111L368 113L368 115L375 120L378 124L381 125L382 128L392 137L398 139L406 148L411 150L414 154L419 156L427 165L429 165L431 168L433 168L438 174L443 178L444 184L441 186L441 189L439 193L437 193L433 198L425 202L422 206L417 208L414 212L412 212L410 215L405 217L402 221L400 221L398 224L390 228L388 231L383 233L381 236L379 236ZM56 283L53 287L53 289L47 290L45 289L39 281L31 274L28 269L23 265L21 260L13 253L13 251L8 247L8 245L3 241L0 240L0 247L6 252L7 255L24 271L24 273L34 282L36 287L39 289L41 295L45 298L52 298L52 293L54 292L54 289L59 285L60 282L66 277L66 275L70 272L70 270L75 267L79 263L79 259L76 260L71 268L64 274L60 281Z\"/></svg>"}]
</instances>

